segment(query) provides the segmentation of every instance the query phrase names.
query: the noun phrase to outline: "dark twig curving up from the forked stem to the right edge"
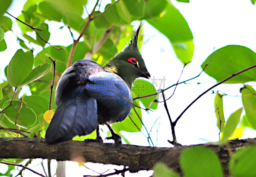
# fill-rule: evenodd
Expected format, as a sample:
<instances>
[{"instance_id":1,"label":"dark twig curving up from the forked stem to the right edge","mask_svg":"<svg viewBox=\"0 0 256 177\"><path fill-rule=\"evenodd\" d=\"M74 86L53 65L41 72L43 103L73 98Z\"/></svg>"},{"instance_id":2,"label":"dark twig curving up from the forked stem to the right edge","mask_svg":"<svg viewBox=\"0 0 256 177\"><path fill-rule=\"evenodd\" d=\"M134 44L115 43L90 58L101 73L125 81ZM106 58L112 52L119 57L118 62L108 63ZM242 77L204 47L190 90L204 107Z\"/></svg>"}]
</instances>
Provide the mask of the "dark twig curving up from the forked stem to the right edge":
<instances>
[{"instance_id":1,"label":"dark twig curving up from the forked stem to the right edge","mask_svg":"<svg viewBox=\"0 0 256 177\"><path fill-rule=\"evenodd\" d=\"M228 81L228 80L231 79L232 77L234 77L234 76L236 76L236 75L238 75L238 74L240 74L240 73L243 73L243 72L245 72L245 71L247 71L247 70L249 70L249 69L252 69L252 68L254 68L254 67L256 67L256 65L252 65L251 67L247 67L247 68L243 69L242 71L239 71L239 72L237 72L237 73L235 73L235 74L232 74L231 76L227 77L227 78L224 79L223 81L220 81L220 82L218 82L217 84L215 84L214 86L208 88L208 89L207 89L206 91L204 91L201 95L199 95L192 103L190 103L190 104L188 105L188 107L187 107L185 110L182 111L182 113L180 114L180 116L177 117L177 119L174 121L174 124L176 125L177 122L178 122L178 120L179 120L180 117L186 112L186 110L188 110L188 108L189 108L192 104L194 104L201 96L203 96L203 95L204 95L205 93L207 93L209 90L211 90L212 88L214 88L214 87L216 87L216 86L222 84L222 83L225 82L225 81Z\"/></svg>"}]
</instances>

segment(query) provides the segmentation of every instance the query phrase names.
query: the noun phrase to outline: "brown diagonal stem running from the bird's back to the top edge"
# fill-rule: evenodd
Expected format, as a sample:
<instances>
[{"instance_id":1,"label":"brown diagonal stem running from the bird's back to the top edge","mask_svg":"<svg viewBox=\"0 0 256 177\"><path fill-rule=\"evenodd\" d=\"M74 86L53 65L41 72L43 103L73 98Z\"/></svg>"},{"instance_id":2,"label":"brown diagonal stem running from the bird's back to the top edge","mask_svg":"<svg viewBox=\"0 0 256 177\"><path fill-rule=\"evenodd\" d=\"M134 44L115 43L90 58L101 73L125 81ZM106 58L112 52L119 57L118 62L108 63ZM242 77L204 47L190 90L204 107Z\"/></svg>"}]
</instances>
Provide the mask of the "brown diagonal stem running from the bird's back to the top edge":
<instances>
[{"instance_id":1,"label":"brown diagonal stem running from the bird's back to the top edge","mask_svg":"<svg viewBox=\"0 0 256 177\"><path fill-rule=\"evenodd\" d=\"M78 37L76 40L74 40L74 43L73 43L73 45L72 45L72 48L71 48L70 53L69 53L69 56L68 56L67 68L71 66L71 63L72 63L72 60L73 60L73 56L74 56L74 53L75 53L75 51L76 51L76 46L77 46L77 44L78 44L80 38L83 36L84 32L86 31L86 29L88 28L90 22L92 21L92 14L93 14L93 12L95 11L95 9L96 9L98 3L99 3L99 0L97 0L97 2L96 2L96 4L95 4L95 6L94 6L94 8L93 8L93 10L92 10L92 12L91 12L91 14L89 14L88 19L87 19L87 21L86 21L86 23L85 23L85 25L84 25L84 27L83 27L83 29L82 29L82 31L81 31L79 37Z\"/></svg>"}]
</instances>

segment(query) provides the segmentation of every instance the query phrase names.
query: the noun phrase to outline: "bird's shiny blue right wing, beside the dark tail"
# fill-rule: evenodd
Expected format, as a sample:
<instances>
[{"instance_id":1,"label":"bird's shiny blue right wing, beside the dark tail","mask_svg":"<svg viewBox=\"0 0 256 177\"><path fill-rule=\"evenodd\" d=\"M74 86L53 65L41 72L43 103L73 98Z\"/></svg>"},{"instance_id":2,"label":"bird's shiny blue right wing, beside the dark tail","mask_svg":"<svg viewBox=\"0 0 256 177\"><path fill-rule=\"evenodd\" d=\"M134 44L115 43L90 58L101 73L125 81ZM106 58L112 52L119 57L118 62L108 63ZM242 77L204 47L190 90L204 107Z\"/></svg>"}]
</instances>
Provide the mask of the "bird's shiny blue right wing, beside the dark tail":
<instances>
[{"instance_id":1,"label":"bird's shiny blue right wing, beside the dark tail","mask_svg":"<svg viewBox=\"0 0 256 177\"><path fill-rule=\"evenodd\" d=\"M86 89L97 100L99 122L123 121L132 108L132 94L124 80L109 72L93 74L89 80Z\"/></svg>"}]
</instances>

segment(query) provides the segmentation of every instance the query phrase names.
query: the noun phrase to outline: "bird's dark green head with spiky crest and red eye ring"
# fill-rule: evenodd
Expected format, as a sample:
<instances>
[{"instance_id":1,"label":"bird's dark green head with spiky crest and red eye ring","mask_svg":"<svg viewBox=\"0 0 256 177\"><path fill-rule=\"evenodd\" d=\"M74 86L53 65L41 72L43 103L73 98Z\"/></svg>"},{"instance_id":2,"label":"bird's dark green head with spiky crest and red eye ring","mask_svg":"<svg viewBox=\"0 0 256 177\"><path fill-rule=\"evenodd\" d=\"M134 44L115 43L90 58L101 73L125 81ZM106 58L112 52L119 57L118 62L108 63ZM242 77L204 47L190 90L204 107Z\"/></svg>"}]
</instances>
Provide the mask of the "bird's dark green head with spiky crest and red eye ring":
<instances>
[{"instance_id":1,"label":"bird's dark green head with spiky crest and red eye ring","mask_svg":"<svg viewBox=\"0 0 256 177\"><path fill-rule=\"evenodd\" d=\"M104 67L107 71L116 73L122 77L130 88L136 78L150 78L150 74L137 45L141 26L142 23L134 31L132 39L126 44L124 49L110 59Z\"/></svg>"}]
</instances>

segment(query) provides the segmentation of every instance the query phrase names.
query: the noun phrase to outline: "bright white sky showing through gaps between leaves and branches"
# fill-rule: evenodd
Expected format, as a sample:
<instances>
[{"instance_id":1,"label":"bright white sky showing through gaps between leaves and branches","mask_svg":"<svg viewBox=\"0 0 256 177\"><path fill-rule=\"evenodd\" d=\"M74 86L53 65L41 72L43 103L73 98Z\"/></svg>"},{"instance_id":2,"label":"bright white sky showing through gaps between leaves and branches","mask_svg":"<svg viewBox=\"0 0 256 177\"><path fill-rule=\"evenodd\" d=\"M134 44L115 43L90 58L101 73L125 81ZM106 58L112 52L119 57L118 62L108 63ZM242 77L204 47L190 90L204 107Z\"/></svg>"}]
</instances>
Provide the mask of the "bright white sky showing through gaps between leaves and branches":
<instances>
[{"instance_id":1,"label":"bright white sky showing through gaps between leaves and branches","mask_svg":"<svg viewBox=\"0 0 256 177\"><path fill-rule=\"evenodd\" d=\"M25 2L26 0L13 0L12 6L9 8L8 12L15 17L19 16ZM109 2L110 0L104 1L104 3ZM235 44L246 46L253 51L256 51L256 7L251 4L250 0L191 0L189 4L179 3L172 0L172 3L180 10L180 13L187 20L190 30L193 33L195 44L192 63L185 68L180 81L190 79L201 72L202 69L200 66L207 56L212 53L213 47L217 50L223 46ZM88 10L90 11L90 6L88 7ZM17 29L17 22L15 22L14 19L12 20L13 31L20 33ZM139 22L134 22L132 24L138 26ZM62 26L62 24L49 22L49 30L52 34L49 42L52 45L61 44L68 46L72 43L72 39L67 28L63 28L62 31L58 30L60 26ZM141 53L151 76L155 76L157 79L162 79L163 76L165 76L167 79L165 81L165 88L176 83L183 68L183 64L176 58L169 40L148 23L144 23L144 32L144 41L149 40L142 47ZM77 38L76 33L75 36ZM21 37L21 35L19 35L19 37ZM7 43L7 50L0 53L0 77L2 78L4 77L4 67L9 63L14 53L21 48L19 44L16 43L16 37L12 32L6 32L4 39ZM34 47L38 52L41 50L40 47ZM163 52L161 49L164 49L165 51ZM198 85L196 84L197 82L209 84ZM174 96L167 101L172 120L178 117L189 103L206 89L210 88L214 82L214 79L207 74L202 73L199 78L188 82L190 84L179 85ZM158 82L158 86L159 84L160 81ZM252 82L252 85L256 84ZM229 95L240 95L239 88L241 87L243 87L242 84L225 84L216 87L214 90L220 90ZM170 96L172 90L169 89L165 94L166 97ZM205 94L181 117L175 127L178 143L181 143L182 145L190 145L218 141L219 130L216 126L217 119L214 110L214 97L215 94ZM242 107L241 97L225 96L223 102L226 120L232 112ZM152 124L158 117L160 118L150 134L153 142L156 142L156 129L160 122L157 146L172 147L172 145L167 142L168 139L172 140L172 135L170 122L163 103L159 103L155 112L150 112L149 115L148 113L143 113L143 122L150 130ZM105 130L104 126L102 128ZM147 139L140 132L122 133L134 145L148 145ZM105 138L106 135L103 134L102 137ZM254 137L256 137L255 131L250 129L244 130L244 136L242 138ZM52 161L52 174L55 173L54 168L56 163L54 162L55 161ZM30 166L32 167L39 163L40 160L38 159L33 161ZM45 161L45 166L46 164ZM89 173L84 167L78 167L75 162L67 162L66 166L67 176L74 176L74 173L76 176L82 176L84 174L97 175L96 173ZM104 172L108 168L113 169L113 167L109 165L103 166L92 163L87 163L86 166L98 172ZM122 167L115 168L122 169ZM0 169L4 172L4 166L1 164ZM39 173L43 173L40 164L32 169ZM0 172L2 172L2 170L0 170ZM151 174L152 172L139 172L132 175L126 174L126 176L148 177ZM25 175L34 176L35 174L26 170Z\"/></svg>"}]
</instances>

